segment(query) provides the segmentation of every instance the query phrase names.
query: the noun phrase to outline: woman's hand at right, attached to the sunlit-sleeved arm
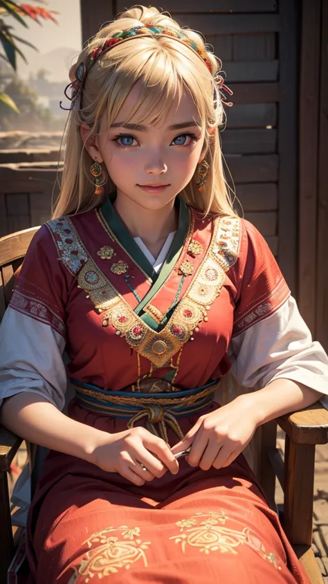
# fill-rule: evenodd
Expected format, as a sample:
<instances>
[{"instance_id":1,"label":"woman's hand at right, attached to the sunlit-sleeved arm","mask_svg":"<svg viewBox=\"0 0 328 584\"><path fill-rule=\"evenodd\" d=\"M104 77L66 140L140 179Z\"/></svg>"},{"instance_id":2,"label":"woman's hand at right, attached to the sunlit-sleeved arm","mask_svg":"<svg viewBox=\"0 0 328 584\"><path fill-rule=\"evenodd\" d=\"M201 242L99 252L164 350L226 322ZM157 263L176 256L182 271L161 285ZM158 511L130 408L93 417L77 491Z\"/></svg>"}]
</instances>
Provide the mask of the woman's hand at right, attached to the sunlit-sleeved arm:
<instances>
[{"instance_id":1,"label":"woman's hand at right, attached to the sunlit-sleeved arm","mask_svg":"<svg viewBox=\"0 0 328 584\"><path fill-rule=\"evenodd\" d=\"M245 399L245 398L248 399ZM172 447L173 454L190 445L186 459L190 466L209 470L230 465L253 437L258 420L252 409L251 394L241 395L226 406L201 415L183 440Z\"/></svg>"}]
</instances>

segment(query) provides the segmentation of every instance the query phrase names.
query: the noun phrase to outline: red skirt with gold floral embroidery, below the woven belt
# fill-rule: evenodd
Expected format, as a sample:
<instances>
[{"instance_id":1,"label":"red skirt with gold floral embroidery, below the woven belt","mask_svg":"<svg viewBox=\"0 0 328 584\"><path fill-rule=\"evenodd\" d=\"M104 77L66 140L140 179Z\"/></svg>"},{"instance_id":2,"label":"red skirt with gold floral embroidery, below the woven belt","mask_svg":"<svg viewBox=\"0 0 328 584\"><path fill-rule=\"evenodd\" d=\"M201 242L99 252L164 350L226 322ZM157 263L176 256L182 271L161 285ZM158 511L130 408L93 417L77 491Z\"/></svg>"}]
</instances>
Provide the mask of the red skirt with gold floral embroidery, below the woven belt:
<instances>
[{"instance_id":1,"label":"red skirt with gold floral embroidery, below the woven belt","mask_svg":"<svg viewBox=\"0 0 328 584\"><path fill-rule=\"evenodd\" d=\"M69 413L126 429L76 402ZM183 432L198 417L179 418ZM309 584L244 456L221 470L179 464L178 474L137 487L51 452L30 506L29 584Z\"/></svg>"}]
</instances>

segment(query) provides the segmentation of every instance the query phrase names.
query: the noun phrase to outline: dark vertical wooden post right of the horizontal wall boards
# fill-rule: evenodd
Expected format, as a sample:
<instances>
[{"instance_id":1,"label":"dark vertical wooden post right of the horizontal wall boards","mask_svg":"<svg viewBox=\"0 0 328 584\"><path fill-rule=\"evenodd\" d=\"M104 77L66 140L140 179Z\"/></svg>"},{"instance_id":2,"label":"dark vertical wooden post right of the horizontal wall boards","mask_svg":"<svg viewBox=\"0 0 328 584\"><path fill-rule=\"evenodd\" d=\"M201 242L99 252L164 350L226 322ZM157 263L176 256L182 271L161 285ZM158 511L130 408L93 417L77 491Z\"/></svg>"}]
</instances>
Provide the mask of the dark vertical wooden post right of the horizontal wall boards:
<instances>
[{"instance_id":1,"label":"dark vertical wooden post right of the horizontal wall boards","mask_svg":"<svg viewBox=\"0 0 328 584\"><path fill-rule=\"evenodd\" d=\"M298 14L297 0L280 2L279 103L279 259L280 268L297 298L298 234Z\"/></svg>"}]
</instances>

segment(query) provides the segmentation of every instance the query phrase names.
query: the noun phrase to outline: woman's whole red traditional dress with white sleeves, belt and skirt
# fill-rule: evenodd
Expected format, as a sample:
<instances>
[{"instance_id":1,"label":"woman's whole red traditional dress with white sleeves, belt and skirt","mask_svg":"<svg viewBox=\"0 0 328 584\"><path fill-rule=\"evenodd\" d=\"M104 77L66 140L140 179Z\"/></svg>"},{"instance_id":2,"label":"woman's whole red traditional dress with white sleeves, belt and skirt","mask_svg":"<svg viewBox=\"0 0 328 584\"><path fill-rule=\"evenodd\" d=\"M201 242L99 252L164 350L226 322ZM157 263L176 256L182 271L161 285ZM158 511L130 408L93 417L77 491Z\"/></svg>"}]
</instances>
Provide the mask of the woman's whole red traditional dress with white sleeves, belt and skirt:
<instances>
[{"instance_id":1,"label":"woman's whole red traditional dress with white sleeves, belt and skirt","mask_svg":"<svg viewBox=\"0 0 328 584\"><path fill-rule=\"evenodd\" d=\"M255 227L177 205L160 270L109 199L39 230L3 319L1 397L30 391L63 409L68 371L72 418L110 433L145 425L174 445L219 407L230 368L243 386L285 377L328 393L327 355ZM51 452L28 559L33 584L308 583L242 455L206 472L182 459L137 487Z\"/></svg>"}]
</instances>

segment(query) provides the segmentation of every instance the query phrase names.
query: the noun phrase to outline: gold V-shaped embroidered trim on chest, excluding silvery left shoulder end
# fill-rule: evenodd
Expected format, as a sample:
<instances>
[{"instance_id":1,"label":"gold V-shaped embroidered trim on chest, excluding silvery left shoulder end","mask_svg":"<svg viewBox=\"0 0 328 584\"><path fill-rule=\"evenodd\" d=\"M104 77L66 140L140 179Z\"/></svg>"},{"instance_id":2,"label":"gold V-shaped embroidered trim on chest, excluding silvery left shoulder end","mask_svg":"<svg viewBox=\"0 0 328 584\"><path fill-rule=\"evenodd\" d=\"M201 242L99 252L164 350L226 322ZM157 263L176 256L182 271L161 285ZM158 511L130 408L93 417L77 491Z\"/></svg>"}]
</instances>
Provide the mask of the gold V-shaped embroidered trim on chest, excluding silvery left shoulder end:
<instances>
[{"instance_id":1,"label":"gold V-shaped embroidered trim on chest, excluding silvery left shoulder end","mask_svg":"<svg viewBox=\"0 0 328 584\"><path fill-rule=\"evenodd\" d=\"M112 325L118 334L125 337L130 347L149 359L156 368L165 367L190 339L199 323L202 320L207 322L207 311L221 291L225 272L237 260L239 230L239 218L223 217L215 220L208 251L181 302L161 332L154 331L143 322L91 257L80 270L78 285L89 294L95 308L102 313L104 326ZM228 238L224 248L219 244L223 235ZM98 274L98 282L89 282L86 274L91 271ZM156 341L162 341L167 347L161 354L156 354L153 350Z\"/></svg>"}]
</instances>

